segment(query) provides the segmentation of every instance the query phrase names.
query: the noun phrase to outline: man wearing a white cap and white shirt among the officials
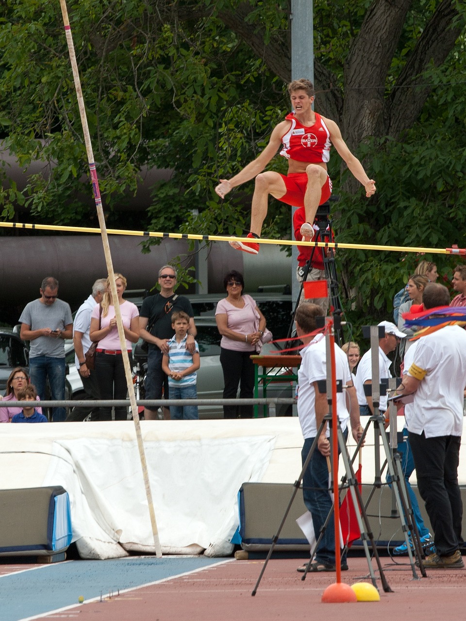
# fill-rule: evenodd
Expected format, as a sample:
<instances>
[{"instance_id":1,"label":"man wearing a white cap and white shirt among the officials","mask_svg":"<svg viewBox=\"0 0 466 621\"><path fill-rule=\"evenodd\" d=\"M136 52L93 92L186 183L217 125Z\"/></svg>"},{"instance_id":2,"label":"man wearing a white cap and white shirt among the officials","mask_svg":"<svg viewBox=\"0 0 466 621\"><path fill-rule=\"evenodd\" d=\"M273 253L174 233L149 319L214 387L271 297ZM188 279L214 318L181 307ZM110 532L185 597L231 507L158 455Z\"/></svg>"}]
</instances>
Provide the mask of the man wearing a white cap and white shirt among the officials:
<instances>
[{"instance_id":1,"label":"man wearing a white cap and white shirt among the officials","mask_svg":"<svg viewBox=\"0 0 466 621\"><path fill-rule=\"evenodd\" d=\"M387 354L396 350L396 345L400 338L405 338L406 334L398 330L395 324L390 321L381 321L380 324L385 328L385 337L378 340L378 370L381 383L382 379L390 379L391 360ZM372 397L366 397L364 394L364 384L372 384L372 350L366 351L359 361L356 373L356 392L359 402L359 412L362 416L371 416L374 413L372 405ZM385 412L387 407L387 396L380 396L379 410Z\"/></svg>"}]
</instances>

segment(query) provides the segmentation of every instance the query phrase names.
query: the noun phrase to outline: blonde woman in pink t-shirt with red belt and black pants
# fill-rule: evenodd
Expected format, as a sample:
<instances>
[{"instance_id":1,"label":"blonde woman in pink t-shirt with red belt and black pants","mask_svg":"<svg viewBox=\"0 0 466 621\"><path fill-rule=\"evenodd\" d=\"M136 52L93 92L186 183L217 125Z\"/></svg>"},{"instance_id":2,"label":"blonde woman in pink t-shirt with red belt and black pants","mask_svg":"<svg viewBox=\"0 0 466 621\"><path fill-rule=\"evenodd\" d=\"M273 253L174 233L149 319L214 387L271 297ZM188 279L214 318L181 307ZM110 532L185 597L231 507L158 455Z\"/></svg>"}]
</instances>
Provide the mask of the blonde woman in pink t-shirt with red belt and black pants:
<instances>
[{"instance_id":1,"label":"blonde woman in pink t-shirt with red belt and black pants","mask_svg":"<svg viewBox=\"0 0 466 621\"><path fill-rule=\"evenodd\" d=\"M115 274L117 304L126 337L126 348L129 364L132 366L132 345L139 340L139 311L137 306L123 298L126 289L126 278ZM126 399L127 386L123 364L123 356L115 317L115 302L110 292L110 280L107 278L107 290L101 304L96 304L91 314L89 338L97 341L96 378L99 384L101 399ZM126 407L115 408L115 420L126 420ZM112 408L101 407L97 420L112 420Z\"/></svg>"}]
</instances>

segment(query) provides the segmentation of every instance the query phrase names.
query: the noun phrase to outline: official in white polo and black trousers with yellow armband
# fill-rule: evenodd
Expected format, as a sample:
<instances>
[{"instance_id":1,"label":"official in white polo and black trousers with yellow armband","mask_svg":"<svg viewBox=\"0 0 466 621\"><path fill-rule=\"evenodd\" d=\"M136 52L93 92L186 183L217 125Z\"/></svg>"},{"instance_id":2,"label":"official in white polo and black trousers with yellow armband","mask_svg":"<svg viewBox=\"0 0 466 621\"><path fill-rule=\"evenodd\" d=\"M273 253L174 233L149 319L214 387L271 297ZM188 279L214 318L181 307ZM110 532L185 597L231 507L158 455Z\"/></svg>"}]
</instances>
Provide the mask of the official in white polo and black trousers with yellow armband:
<instances>
[{"instance_id":1,"label":"official in white polo and black trousers with yellow armband","mask_svg":"<svg viewBox=\"0 0 466 621\"><path fill-rule=\"evenodd\" d=\"M429 283L423 293L424 309L448 306L442 284ZM421 338L397 394L413 394L404 415L413 451L418 489L434 529L436 552L424 567L464 567L459 545L463 507L458 464L463 429L466 386L466 331L445 325Z\"/></svg>"}]
</instances>

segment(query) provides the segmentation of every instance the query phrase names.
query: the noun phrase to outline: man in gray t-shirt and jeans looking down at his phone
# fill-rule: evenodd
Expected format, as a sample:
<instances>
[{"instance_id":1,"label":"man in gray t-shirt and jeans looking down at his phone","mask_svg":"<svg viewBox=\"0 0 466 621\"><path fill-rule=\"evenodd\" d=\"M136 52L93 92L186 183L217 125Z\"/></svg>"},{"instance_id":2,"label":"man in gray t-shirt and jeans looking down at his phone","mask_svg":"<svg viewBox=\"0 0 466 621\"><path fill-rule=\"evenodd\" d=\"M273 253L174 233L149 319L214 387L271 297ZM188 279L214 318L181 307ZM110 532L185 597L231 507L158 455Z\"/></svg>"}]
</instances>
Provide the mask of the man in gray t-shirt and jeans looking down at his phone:
<instances>
[{"instance_id":1,"label":"man in gray t-shirt and jeans looking down at his phone","mask_svg":"<svg viewBox=\"0 0 466 621\"><path fill-rule=\"evenodd\" d=\"M57 299L58 281L49 276L40 297L26 304L21 313L21 338L30 342L29 375L40 399L45 399L48 378L52 399L65 399L65 338L73 335L70 305ZM64 407L53 409L53 421L66 419Z\"/></svg>"}]
</instances>

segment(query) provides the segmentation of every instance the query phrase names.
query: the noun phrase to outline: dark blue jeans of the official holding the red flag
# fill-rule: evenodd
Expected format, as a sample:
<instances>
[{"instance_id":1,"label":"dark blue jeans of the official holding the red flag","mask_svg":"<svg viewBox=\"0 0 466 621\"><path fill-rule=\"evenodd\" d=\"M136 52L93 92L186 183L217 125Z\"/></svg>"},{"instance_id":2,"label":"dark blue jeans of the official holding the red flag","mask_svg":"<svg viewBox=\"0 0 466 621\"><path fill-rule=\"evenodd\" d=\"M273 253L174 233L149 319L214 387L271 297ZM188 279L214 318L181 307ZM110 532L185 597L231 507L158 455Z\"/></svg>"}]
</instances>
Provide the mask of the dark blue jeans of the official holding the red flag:
<instances>
[{"instance_id":1,"label":"dark blue jeans of the official holding the red flag","mask_svg":"<svg viewBox=\"0 0 466 621\"><path fill-rule=\"evenodd\" d=\"M344 431L345 439L348 436L348 430ZM313 445L314 438L306 438L301 450L301 462L308 457L309 450ZM338 450L340 454L340 450ZM319 538L321 528L325 524L327 515L332 508L332 499L329 494L329 469L327 467L327 458L324 457L316 446L314 453L309 461L308 468L303 476L303 500L307 509L313 515L314 533L316 539ZM335 564L335 519L332 511L331 518L327 524L327 528L322 535L321 542L316 550L316 561L329 565ZM346 562L345 556L342 555L341 562Z\"/></svg>"}]
</instances>

